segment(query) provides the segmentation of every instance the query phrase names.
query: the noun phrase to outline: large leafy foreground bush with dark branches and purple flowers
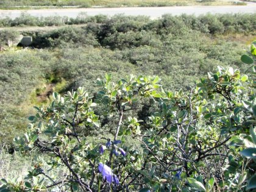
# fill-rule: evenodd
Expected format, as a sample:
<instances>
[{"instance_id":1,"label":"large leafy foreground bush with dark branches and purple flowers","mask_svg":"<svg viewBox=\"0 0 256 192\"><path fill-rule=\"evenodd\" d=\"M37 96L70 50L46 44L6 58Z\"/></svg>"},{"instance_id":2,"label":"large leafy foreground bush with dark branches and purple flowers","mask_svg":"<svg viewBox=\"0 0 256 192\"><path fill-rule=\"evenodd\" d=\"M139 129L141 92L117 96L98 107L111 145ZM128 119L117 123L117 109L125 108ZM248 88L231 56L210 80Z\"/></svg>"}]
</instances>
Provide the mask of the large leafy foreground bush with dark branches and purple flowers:
<instances>
[{"instance_id":1,"label":"large leafy foreground bush with dark branches and purple flowers","mask_svg":"<svg viewBox=\"0 0 256 192\"><path fill-rule=\"evenodd\" d=\"M0 189L255 189L255 50L252 44L250 55L241 57L251 65L247 74L218 66L188 91L165 90L158 76L130 75L115 82L105 74L96 80L100 89L94 96L82 87L64 96L54 93L46 109L35 107L27 132L14 144L24 154L36 150L48 155L49 170L63 167L68 170L65 179L50 177L39 160L23 180L2 179ZM129 112L143 98L155 108L141 121ZM100 129L104 116L117 117L110 118L113 135L105 130L98 135L100 142L88 142L87 132Z\"/></svg>"}]
</instances>

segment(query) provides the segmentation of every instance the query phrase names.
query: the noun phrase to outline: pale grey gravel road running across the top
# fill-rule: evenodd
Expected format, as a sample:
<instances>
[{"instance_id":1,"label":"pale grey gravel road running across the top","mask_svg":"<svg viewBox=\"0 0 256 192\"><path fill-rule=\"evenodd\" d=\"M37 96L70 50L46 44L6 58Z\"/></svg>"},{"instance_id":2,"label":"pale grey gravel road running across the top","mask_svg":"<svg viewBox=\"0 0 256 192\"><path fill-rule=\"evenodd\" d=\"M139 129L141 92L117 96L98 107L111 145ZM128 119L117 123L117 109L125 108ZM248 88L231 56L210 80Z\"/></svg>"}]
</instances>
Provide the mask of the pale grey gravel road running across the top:
<instances>
[{"instance_id":1,"label":"pale grey gravel road running across the top","mask_svg":"<svg viewBox=\"0 0 256 192\"><path fill-rule=\"evenodd\" d=\"M16 18L24 10L0 10L0 18L9 16ZM201 15L205 13L256 13L256 3L248 2L247 5L223 5L223 6L177 6L177 7L121 7L121 8L91 8L91 9L38 9L26 10L25 12L33 16L68 16L75 18L79 13L85 12L87 15L147 15L152 19L158 18L165 13L180 15L182 13Z\"/></svg>"}]
</instances>

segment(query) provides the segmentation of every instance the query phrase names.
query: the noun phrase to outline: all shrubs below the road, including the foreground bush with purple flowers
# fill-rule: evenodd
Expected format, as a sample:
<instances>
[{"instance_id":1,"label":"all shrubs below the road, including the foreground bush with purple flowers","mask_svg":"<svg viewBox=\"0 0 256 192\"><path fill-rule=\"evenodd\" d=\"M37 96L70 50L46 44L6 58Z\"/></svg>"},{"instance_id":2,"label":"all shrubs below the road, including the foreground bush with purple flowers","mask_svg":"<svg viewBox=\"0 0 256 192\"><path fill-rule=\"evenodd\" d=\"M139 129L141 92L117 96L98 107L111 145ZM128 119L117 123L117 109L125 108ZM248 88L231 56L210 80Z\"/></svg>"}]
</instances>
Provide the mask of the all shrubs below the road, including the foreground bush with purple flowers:
<instances>
[{"instance_id":1,"label":"all shrubs below the road, including the foreground bush with purple flowers","mask_svg":"<svg viewBox=\"0 0 256 192\"><path fill-rule=\"evenodd\" d=\"M0 54L1 140L15 137L0 166L31 167L1 171L0 190L254 190L254 18L94 16L21 32L33 49Z\"/></svg>"}]
</instances>

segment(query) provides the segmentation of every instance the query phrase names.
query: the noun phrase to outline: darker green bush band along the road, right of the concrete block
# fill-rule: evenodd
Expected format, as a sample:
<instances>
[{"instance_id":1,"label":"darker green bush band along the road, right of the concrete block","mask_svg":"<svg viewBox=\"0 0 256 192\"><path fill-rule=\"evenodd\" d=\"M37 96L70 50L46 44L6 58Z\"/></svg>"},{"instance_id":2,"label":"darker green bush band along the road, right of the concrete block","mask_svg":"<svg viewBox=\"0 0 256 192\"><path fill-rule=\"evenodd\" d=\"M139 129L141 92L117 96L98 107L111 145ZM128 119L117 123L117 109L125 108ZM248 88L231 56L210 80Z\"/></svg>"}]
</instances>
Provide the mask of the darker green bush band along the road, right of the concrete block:
<instances>
[{"instance_id":1,"label":"darker green bush band along the road, right of the concrete block","mask_svg":"<svg viewBox=\"0 0 256 192\"><path fill-rule=\"evenodd\" d=\"M255 34L254 18L255 14L208 14L198 17L163 15L158 20L150 20L148 16L90 17L86 21L87 25L81 28L66 27L46 33L35 33L34 43L31 46L55 48L75 44L75 46L103 46L110 49L139 46L158 48L166 46L169 41L190 38L191 33ZM76 21L82 23L80 19Z\"/></svg>"}]
</instances>

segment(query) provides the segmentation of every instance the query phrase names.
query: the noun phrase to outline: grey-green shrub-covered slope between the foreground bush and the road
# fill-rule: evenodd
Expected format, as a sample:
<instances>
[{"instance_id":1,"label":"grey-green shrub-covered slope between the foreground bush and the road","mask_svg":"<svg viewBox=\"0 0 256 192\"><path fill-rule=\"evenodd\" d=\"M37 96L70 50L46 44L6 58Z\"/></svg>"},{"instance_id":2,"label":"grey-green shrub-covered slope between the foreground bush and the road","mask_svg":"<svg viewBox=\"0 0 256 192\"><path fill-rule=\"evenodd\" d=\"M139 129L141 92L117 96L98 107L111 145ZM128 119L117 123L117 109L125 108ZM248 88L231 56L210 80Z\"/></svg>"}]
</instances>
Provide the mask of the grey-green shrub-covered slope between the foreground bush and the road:
<instances>
[{"instance_id":1,"label":"grey-green shrub-covered slope between the foreground bush and the road","mask_svg":"<svg viewBox=\"0 0 256 192\"><path fill-rule=\"evenodd\" d=\"M85 86L113 73L160 75L171 90L188 88L216 66L240 67L243 45L221 40L223 35L252 35L255 14L91 17L85 27L63 27L32 35L32 48L0 54L0 138L10 141L22 133L32 106L48 84L63 91ZM250 43L250 42L249 42ZM48 102L44 97L44 102Z\"/></svg>"}]
</instances>

